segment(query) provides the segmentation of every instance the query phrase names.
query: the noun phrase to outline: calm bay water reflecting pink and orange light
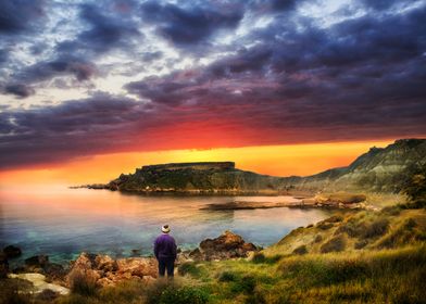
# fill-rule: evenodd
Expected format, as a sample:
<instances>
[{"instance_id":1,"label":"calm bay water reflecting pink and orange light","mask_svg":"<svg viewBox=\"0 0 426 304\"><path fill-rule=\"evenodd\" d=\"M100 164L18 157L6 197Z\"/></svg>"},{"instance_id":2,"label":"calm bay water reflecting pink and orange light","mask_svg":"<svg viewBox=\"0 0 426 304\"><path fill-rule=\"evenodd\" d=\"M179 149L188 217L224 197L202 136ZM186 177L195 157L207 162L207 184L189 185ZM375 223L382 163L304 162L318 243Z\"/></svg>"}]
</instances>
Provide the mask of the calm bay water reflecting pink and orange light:
<instances>
[{"instance_id":1,"label":"calm bay water reflecting pink and orange light","mask_svg":"<svg viewBox=\"0 0 426 304\"><path fill-rule=\"evenodd\" d=\"M88 189L0 190L0 245L23 249L22 258L48 254L64 263L82 251L130 256L152 253L153 239L170 224L178 246L196 248L229 229L270 245L299 226L329 215L322 210L201 211L230 201L284 202L291 197L136 195Z\"/></svg>"}]
</instances>

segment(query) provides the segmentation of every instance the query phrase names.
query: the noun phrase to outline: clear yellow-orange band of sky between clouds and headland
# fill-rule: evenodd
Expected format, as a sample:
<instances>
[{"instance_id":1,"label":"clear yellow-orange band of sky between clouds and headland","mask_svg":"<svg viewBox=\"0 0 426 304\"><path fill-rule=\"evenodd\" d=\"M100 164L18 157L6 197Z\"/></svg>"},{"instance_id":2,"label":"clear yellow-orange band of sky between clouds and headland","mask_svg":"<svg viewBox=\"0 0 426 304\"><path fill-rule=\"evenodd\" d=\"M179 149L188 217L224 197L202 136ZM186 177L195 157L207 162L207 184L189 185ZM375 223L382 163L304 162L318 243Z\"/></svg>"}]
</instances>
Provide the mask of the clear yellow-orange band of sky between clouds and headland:
<instances>
[{"instance_id":1,"label":"clear yellow-orange band of sky between clouds and headland","mask_svg":"<svg viewBox=\"0 0 426 304\"><path fill-rule=\"evenodd\" d=\"M209 150L171 150L110 153L74 159L63 164L0 172L0 187L72 186L108 182L120 174L134 173L143 165L180 162L231 161L236 167L274 176L306 176L347 166L373 145L393 140L310 144L260 145Z\"/></svg>"}]
</instances>

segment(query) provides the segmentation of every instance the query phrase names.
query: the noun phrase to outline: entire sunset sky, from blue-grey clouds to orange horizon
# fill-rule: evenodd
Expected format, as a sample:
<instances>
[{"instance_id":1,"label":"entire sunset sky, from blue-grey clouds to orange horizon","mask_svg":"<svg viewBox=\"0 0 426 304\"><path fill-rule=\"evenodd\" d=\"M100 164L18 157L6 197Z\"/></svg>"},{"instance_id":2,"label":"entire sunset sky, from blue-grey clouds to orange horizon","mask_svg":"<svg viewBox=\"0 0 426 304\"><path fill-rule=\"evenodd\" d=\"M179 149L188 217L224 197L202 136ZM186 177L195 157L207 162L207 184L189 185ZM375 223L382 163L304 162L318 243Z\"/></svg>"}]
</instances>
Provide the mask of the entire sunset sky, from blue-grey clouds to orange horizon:
<instances>
[{"instance_id":1,"label":"entire sunset sky, from blue-grey clouds to orange horizon","mask_svg":"<svg viewBox=\"0 0 426 304\"><path fill-rule=\"evenodd\" d=\"M0 185L271 175L426 135L426 1L0 1Z\"/></svg>"}]
</instances>

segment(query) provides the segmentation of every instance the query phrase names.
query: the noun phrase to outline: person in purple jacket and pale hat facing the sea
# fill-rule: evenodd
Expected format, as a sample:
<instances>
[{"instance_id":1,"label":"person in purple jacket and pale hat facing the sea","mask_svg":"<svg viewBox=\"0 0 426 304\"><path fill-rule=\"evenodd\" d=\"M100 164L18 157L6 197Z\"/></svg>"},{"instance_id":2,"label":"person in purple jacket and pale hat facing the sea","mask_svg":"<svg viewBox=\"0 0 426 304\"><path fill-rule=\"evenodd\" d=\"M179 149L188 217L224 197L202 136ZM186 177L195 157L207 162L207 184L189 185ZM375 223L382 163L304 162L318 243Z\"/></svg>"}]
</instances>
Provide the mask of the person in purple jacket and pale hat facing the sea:
<instances>
[{"instance_id":1,"label":"person in purple jacket and pale hat facing the sea","mask_svg":"<svg viewBox=\"0 0 426 304\"><path fill-rule=\"evenodd\" d=\"M168 233L171 228L168 225L161 227L163 232L155 239L154 254L159 261L159 275L164 277L165 269L167 268L167 277L173 277L176 259L176 242Z\"/></svg>"}]
</instances>

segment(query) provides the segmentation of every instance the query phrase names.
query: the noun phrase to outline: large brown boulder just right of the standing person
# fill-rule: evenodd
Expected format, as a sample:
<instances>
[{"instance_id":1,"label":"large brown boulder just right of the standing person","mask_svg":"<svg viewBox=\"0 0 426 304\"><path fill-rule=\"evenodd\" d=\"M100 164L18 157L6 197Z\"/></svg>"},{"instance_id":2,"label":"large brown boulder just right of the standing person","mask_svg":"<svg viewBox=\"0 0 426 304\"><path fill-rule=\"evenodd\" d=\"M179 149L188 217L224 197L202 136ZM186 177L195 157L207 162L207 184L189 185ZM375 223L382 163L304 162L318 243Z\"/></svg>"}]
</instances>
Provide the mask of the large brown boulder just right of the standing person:
<instances>
[{"instance_id":1,"label":"large brown boulder just right of the standing person","mask_svg":"<svg viewBox=\"0 0 426 304\"><path fill-rule=\"evenodd\" d=\"M196 261L228 259L247 257L250 252L258 251L252 243L228 230L215 239L206 239L200 243L200 248L190 252L189 257Z\"/></svg>"}]
</instances>

